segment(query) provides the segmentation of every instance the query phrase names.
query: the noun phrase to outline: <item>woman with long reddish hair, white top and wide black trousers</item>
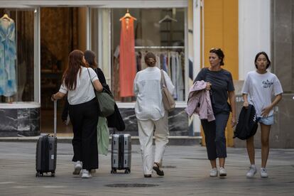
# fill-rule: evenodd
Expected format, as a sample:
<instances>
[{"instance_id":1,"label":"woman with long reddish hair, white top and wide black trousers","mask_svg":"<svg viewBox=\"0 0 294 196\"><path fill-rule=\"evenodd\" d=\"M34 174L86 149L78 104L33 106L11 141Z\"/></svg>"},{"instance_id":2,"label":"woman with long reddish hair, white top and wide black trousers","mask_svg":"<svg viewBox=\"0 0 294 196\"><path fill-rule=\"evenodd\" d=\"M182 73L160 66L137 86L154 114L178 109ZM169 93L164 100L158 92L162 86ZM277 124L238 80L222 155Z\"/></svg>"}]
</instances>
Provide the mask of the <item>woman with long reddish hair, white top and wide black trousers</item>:
<instances>
[{"instance_id":1,"label":"woman with long reddish hair, white top and wide black trousers","mask_svg":"<svg viewBox=\"0 0 294 196\"><path fill-rule=\"evenodd\" d=\"M61 99L67 94L70 121L72 121L72 146L75 171L82 170L82 178L92 178L89 170L98 168L97 122L98 109L94 88L101 92L103 87L94 70L87 68L84 53L73 50L68 58L68 67L62 76L59 92L51 99Z\"/></svg>"}]
</instances>

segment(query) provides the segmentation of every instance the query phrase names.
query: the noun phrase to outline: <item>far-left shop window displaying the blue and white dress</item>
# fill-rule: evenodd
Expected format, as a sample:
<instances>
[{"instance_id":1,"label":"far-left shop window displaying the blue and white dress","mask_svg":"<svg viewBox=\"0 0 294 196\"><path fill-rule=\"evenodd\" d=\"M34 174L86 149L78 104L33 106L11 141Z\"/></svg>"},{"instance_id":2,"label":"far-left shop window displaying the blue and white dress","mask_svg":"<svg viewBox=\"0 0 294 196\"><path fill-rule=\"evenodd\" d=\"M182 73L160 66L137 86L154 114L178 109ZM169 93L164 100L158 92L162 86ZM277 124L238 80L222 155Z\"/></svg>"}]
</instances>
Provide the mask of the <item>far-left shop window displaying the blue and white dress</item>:
<instances>
[{"instance_id":1,"label":"far-left shop window displaying the blue and white dress","mask_svg":"<svg viewBox=\"0 0 294 196\"><path fill-rule=\"evenodd\" d=\"M0 103L34 101L34 11L0 9Z\"/></svg>"}]
</instances>

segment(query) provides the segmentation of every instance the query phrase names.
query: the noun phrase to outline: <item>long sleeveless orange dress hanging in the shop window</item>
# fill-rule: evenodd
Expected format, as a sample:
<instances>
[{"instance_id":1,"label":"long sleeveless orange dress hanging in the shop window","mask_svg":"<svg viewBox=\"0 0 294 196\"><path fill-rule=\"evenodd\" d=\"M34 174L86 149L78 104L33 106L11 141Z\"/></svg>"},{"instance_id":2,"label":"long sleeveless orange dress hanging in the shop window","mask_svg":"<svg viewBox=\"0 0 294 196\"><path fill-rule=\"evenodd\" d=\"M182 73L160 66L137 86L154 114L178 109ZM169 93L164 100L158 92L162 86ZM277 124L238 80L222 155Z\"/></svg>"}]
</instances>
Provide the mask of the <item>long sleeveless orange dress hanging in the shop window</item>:
<instances>
[{"instance_id":1,"label":"long sleeveless orange dress hanging in the shop window","mask_svg":"<svg viewBox=\"0 0 294 196\"><path fill-rule=\"evenodd\" d=\"M134 96L136 76L134 18L121 20L121 41L119 54L119 87L121 97Z\"/></svg>"}]
</instances>

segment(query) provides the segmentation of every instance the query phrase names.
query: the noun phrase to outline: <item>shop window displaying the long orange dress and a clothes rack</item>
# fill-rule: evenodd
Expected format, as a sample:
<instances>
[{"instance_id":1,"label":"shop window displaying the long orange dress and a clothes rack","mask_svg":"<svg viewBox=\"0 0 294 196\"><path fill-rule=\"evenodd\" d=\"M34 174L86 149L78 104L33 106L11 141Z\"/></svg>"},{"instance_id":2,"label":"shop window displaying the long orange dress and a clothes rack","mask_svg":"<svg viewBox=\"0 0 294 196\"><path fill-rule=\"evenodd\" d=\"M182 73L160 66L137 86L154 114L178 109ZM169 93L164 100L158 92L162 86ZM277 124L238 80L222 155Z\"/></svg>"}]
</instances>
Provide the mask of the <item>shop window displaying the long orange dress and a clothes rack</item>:
<instances>
[{"instance_id":1,"label":"shop window displaying the long orange dress and a clothes rack","mask_svg":"<svg viewBox=\"0 0 294 196\"><path fill-rule=\"evenodd\" d=\"M131 18L126 17L124 21L127 11ZM134 102L131 78L134 76L130 73L146 68L147 52L156 55L156 66L172 79L175 100L184 101L185 9L112 9L111 20L111 84L116 101ZM134 50L129 50L133 43ZM121 54L127 57L123 61L120 61Z\"/></svg>"}]
</instances>

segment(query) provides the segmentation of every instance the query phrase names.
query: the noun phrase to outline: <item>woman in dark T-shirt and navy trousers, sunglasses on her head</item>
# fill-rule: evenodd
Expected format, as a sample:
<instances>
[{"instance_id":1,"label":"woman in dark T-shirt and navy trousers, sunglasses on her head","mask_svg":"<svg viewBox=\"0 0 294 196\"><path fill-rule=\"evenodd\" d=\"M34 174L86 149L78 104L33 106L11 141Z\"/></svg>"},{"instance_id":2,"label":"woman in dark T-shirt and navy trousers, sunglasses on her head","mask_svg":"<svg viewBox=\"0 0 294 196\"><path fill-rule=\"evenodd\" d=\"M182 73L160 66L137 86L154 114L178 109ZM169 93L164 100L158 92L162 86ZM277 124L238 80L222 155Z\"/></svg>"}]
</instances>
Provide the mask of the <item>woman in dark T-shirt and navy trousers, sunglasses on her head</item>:
<instances>
[{"instance_id":1,"label":"woman in dark T-shirt and navy trousers, sunglasses on her head","mask_svg":"<svg viewBox=\"0 0 294 196\"><path fill-rule=\"evenodd\" d=\"M231 124L232 126L236 124L234 84L232 74L221 67L224 65L224 53L220 48L209 50L209 63L210 66L208 68L205 67L200 70L194 83L201 80L207 82L206 89L210 92L215 118L214 121L201 120L205 134L207 156L212 165L209 175L216 177L219 174L219 176L224 177L227 175L227 171L224 169L224 162L227 157L224 131L230 111L232 111ZM231 105L227 102L228 97ZM219 158L219 170L217 170L217 158Z\"/></svg>"}]
</instances>

